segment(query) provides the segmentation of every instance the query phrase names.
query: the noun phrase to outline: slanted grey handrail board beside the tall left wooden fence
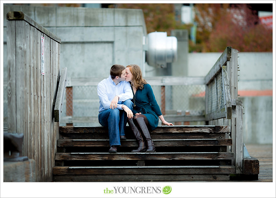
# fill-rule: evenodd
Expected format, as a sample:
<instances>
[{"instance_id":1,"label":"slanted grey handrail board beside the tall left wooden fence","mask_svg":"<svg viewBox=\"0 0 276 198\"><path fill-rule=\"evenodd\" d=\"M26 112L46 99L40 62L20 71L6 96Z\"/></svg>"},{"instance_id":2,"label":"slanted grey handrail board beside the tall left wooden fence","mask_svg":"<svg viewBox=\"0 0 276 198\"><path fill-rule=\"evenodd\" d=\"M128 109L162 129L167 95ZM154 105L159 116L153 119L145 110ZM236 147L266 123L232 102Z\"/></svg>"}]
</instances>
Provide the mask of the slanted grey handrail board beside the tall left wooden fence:
<instances>
[{"instance_id":1,"label":"slanted grey handrail board beside the tall left wooden fence","mask_svg":"<svg viewBox=\"0 0 276 198\"><path fill-rule=\"evenodd\" d=\"M56 95L56 104L54 109L55 122L60 121L61 113L62 113L62 104L65 96L66 90L66 81L67 81L67 67L63 67L61 69L61 75Z\"/></svg>"}]
</instances>

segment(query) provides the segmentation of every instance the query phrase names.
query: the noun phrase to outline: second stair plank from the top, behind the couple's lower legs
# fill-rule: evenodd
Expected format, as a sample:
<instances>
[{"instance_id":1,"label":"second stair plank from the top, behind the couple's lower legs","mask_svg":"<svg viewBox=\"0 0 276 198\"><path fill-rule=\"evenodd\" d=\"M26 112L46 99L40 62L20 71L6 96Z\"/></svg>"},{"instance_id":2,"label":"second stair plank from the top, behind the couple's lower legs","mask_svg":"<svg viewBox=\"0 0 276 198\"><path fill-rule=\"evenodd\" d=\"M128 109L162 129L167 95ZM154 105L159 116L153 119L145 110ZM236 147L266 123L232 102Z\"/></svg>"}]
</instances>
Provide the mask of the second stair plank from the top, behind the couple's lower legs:
<instances>
[{"instance_id":1,"label":"second stair plank from the top, behind the couple's lower legs","mask_svg":"<svg viewBox=\"0 0 276 198\"><path fill-rule=\"evenodd\" d=\"M182 139L182 140L154 140L155 146L231 146L232 139ZM109 146L109 140L57 140L57 146ZM121 141L121 147L138 146L136 140Z\"/></svg>"}]
</instances>

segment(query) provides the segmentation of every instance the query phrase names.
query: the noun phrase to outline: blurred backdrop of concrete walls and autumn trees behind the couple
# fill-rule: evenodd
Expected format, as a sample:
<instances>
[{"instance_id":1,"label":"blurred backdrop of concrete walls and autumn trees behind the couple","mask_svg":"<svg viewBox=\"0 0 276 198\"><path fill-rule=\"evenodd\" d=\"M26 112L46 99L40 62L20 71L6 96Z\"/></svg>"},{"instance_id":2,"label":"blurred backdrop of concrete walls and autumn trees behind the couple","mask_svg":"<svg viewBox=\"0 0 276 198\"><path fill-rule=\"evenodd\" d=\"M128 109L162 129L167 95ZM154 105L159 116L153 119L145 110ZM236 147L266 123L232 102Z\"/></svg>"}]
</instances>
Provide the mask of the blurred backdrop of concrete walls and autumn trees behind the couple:
<instances>
[{"instance_id":1,"label":"blurred backdrop of concrete walls and autumn trees behind the couple","mask_svg":"<svg viewBox=\"0 0 276 198\"><path fill-rule=\"evenodd\" d=\"M3 117L7 128L6 14L22 11L61 38L60 67L68 69L61 126L100 126L97 84L113 64L138 64L157 77L205 77L227 46L239 50L239 99L245 144L272 144L272 3L7 3L3 7ZM158 38L159 40L155 40ZM174 39L176 38L176 39ZM151 42L165 49L161 62ZM150 52L153 52L151 54ZM161 106L162 91L152 88ZM69 90L69 91L68 91ZM205 85L165 88L164 115L202 115ZM204 122L178 122L200 125Z\"/></svg>"}]
</instances>

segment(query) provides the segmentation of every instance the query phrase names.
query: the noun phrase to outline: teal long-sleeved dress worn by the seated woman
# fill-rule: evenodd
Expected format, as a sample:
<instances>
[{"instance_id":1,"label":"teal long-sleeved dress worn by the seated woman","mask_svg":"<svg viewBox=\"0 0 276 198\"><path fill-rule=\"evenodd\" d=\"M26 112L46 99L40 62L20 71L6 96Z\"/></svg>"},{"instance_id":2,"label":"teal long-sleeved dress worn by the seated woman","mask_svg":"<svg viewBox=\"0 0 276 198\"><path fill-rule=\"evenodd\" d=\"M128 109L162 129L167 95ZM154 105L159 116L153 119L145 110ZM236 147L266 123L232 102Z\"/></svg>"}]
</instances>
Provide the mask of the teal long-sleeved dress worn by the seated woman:
<instances>
[{"instance_id":1,"label":"teal long-sleeved dress worn by the seated woman","mask_svg":"<svg viewBox=\"0 0 276 198\"><path fill-rule=\"evenodd\" d=\"M133 106L133 115L142 113L146 116L149 127L154 130L158 126L158 116L161 116L160 107L157 104L152 88L149 84L144 84L143 89L137 89L131 100Z\"/></svg>"}]
</instances>

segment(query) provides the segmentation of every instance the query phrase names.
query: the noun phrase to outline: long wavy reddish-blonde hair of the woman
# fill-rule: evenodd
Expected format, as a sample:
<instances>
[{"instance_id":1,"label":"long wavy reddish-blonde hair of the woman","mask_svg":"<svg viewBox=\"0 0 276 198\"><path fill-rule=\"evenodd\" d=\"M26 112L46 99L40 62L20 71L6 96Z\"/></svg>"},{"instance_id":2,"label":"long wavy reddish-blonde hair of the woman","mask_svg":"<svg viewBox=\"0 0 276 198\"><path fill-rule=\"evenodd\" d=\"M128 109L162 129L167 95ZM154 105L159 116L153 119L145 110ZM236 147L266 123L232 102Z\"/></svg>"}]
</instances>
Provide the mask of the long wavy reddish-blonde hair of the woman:
<instances>
[{"instance_id":1,"label":"long wavy reddish-blonde hair of the woman","mask_svg":"<svg viewBox=\"0 0 276 198\"><path fill-rule=\"evenodd\" d=\"M142 77L141 68L138 65L135 65L135 64L128 65L126 67L129 67L130 72L133 75L131 85L134 86L136 89L143 89L144 84L147 84L147 82Z\"/></svg>"}]
</instances>

